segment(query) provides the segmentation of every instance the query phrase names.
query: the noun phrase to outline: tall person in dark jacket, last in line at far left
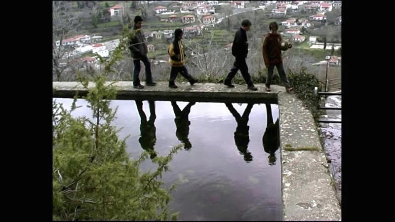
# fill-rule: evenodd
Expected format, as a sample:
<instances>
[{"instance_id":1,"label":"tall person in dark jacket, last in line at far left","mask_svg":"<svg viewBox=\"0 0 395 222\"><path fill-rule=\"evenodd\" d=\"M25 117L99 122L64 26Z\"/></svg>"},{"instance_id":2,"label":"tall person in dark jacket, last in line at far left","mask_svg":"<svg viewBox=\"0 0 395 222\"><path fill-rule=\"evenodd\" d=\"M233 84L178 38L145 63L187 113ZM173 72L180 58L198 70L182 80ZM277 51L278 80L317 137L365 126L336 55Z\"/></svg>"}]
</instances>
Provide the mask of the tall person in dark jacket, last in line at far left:
<instances>
[{"instance_id":1,"label":"tall person in dark jacket, last in line at far left","mask_svg":"<svg viewBox=\"0 0 395 222\"><path fill-rule=\"evenodd\" d=\"M136 17L134 17L134 26L129 33L129 49L130 53L132 54L134 63L133 87L137 89L144 88L144 86L140 84L139 79L139 74L141 70L140 61L142 61L145 66L145 74L147 75L146 85L154 86L157 84L152 80L151 63L147 57L147 42L145 41L144 32L141 29L142 22L143 18L141 16L137 15Z\"/></svg>"}]
</instances>

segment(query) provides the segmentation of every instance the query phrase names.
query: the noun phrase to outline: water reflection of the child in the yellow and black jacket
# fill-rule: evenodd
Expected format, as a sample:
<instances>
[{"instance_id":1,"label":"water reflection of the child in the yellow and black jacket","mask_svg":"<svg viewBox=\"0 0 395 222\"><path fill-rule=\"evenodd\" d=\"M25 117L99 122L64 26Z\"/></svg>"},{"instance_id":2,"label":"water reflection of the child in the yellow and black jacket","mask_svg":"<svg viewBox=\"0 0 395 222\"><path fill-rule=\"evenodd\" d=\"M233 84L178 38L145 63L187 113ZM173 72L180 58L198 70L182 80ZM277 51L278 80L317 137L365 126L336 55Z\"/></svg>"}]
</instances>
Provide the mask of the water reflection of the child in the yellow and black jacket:
<instances>
[{"instance_id":1,"label":"water reflection of the child in the yellow and black jacket","mask_svg":"<svg viewBox=\"0 0 395 222\"><path fill-rule=\"evenodd\" d=\"M176 137L181 142L184 143L185 149L191 149L192 144L188 139L189 135L189 125L191 125L191 121L189 121L188 116L191 112L191 107L195 105L195 102L190 102L184 108L184 110L180 110L177 103L175 101L171 101L171 106L173 107L173 111L175 114L174 122L176 123Z\"/></svg>"}]
</instances>

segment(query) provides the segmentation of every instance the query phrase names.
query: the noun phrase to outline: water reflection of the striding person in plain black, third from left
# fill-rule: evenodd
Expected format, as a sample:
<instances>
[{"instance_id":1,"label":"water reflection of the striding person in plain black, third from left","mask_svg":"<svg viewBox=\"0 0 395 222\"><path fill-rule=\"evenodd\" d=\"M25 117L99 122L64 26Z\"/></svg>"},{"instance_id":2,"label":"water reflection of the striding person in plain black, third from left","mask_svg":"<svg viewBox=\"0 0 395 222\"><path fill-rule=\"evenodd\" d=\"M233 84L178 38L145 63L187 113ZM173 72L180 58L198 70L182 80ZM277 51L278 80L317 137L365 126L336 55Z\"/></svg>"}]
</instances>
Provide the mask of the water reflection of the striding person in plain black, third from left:
<instances>
[{"instance_id":1,"label":"water reflection of the striding person in plain black, third from left","mask_svg":"<svg viewBox=\"0 0 395 222\"><path fill-rule=\"evenodd\" d=\"M237 122L237 127L235 131L235 144L240 152L240 154L244 155L244 160L245 162L250 162L252 161L253 156L251 155L251 152L247 150L248 148L248 143L250 142L250 137L249 137L249 129L250 127L248 126L248 117L251 113L252 106L254 104L248 104L247 108L245 108L243 115L240 116L238 112L235 110L233 105L231 103L226 103L225 104L228 110L232 113L232 115L235 117L236 122Z\"/></svg>"}]
</instances>

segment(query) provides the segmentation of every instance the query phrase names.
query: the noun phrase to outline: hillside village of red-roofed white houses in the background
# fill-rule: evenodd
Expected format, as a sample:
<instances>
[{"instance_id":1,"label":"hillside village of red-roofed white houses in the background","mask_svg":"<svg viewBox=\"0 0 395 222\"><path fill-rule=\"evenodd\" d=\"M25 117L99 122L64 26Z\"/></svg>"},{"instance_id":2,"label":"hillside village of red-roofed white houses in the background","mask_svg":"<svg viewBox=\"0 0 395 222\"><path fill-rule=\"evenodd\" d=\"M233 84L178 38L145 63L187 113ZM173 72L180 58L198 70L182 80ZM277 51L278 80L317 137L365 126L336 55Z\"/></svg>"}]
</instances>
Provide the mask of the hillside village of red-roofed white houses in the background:
<instances>
[{"instance_id":1,"label":"hillside village of red-roofed white houses in the background","mask_svg":"<svg viewBox=\"0 0 395 222\"><path fill-rule=\"evenodd\" d=\"M134 16L126 12L128 4L125 2L104 8L103 11L107 10L109 14L109 22L96 26L104 29L107 25L115 24L113 27L119 30L122 24L131 24ZM277 21L283 39L293 42L301 49L323 50L322 37L310 33L318 32L326 26L341 26L341 14L334 21L328 21L327 18L327 14L333 10L340 11L341 1L139 1L138 4L145 5L140 14L153 15L143 22L143 30L148 42L149 57L155 65L166 62L166 49L172 41L174 29L181 28L186 39L197 42L204 40L204 33L213 32L217 44L228 50L232 46L234 31L224 29L221 23L226 23L224 21L234 16L249 18L251 12ZM227 13L226 10L229 8L230 11ZM147 10L149 12L146 12ZM331 24L328 24L330 22ZM237 26L239 24L236 22L234 27ZM119 44L118 35L108 39L101 33L84 32L66 39L57 39L55 45L57 48L70 49L64 54L63 59L72 58L81 64L80 67L89 65L100 69L99 59L95 53L108 58ZM332 50L332 47L340 51L341 39L338 39L338 42L328 41L325 49ZM333 56L329 62L340 65L341 57ZM322 62L318 61L312 65L320 64Z\"/></svg>"}]
</instances>

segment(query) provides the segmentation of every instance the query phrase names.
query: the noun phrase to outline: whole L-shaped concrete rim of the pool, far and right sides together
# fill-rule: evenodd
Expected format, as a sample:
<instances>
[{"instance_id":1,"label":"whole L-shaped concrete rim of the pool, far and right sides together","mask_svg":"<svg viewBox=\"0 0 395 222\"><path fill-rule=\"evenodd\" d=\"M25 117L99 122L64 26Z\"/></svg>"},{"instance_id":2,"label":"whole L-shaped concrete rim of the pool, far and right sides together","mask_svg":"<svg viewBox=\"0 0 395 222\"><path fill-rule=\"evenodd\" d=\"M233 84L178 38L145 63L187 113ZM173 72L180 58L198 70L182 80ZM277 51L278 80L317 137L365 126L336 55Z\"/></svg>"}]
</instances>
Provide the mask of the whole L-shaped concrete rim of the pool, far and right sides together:
<instances>
[{"instance_id":1,"label":"whole L-shaped concrete rim of the pool, far and right sides together","mask_svg":"<svg viewBox=\"0 0 395 222\"><path fill-rule=\"evenodd\" d=\"M109 84L108 82L107 84ZM53 82L53 98L73 98L76 92L86 95L79 82ZM144 83L143 83L144 84ZM282 171L282 200L284 221L340 221L341 208L336 198L325 154L319 142L312 113L294 94L285 88L255 84L257 91L246 85L228 88L219 83L176 83L171 89L167 82L157 86L134 89L132 82L119 81L117 99L178 100L197 102L271 103L278 104L280 117L280 146ZM94 83L89 83L89 88Z\"/></svg>"}]
</instances>

